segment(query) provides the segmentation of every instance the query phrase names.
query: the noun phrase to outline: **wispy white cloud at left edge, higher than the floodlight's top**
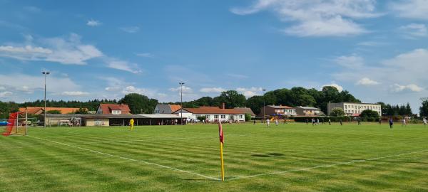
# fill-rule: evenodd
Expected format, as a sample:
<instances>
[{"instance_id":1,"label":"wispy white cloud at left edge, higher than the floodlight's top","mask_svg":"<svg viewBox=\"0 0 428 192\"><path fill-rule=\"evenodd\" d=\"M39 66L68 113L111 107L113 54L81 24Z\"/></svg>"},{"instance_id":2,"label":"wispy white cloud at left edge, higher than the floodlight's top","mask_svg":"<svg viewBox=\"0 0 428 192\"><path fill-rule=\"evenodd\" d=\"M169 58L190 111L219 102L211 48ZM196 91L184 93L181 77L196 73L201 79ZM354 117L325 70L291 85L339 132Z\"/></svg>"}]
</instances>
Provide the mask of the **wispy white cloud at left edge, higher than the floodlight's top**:
<instances>
[{"instance_id":1,"label":"wispy white cloud at left edge, higher than the floodlight's top","mask_svg":"<svg viewBox=\"0 0 428 192\"><path fill-rule=\"evenodd\" d=\"M0 46L0 57L18 60L44 60L62 64L86 65L93 58L103 56L95 46L83 44L81 36L72 33L68 38L44 38L39 40L45 46ZM32 41L32 37L26 38ZM31 43L31 42L29 42Z\"/></svg>"}]
</instances>

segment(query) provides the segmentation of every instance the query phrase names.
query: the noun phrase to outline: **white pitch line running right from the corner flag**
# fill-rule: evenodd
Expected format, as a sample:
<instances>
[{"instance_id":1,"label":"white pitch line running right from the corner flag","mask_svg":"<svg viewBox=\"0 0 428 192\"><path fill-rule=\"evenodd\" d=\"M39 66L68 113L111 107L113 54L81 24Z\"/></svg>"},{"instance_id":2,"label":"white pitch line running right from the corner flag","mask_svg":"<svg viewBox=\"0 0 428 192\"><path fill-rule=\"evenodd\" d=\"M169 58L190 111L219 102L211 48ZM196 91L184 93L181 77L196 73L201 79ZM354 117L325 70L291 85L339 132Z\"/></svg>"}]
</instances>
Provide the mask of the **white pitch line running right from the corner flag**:
<instances>
[{"instance_id":1,"label":"white pitch line running right from the corner flag","mask_svg":"<svg viewBox=\"0 0 428 192\"><path fill-rule=\"evenodd\" d=\"M406 153L406 154L397 154L397 155L375 157L375 158L372 158L372 159L361 159L361 160L347 161L347 162L342 162L342 163L339 163L339 164L330 164L330 165L323 165L323 166L312 166L312 167L307 167L307 168L303 168L303 169L295 169L295 170L289 170L289 171L277 171L277 172L272 172L272 173L267 173L267 174L255 174L255 175L252 175L252 176L237 176L235 178L229 178L228 180L237 180L237 179L241 179L241 178L253 178L253 177L257 177L257 176L285 174L285 173L297 172L297 171L307 171L307 170L317 169L317 168L324 168L324 167L330 167L330 166L339 166L339 165L345 165L345 164L354 164L354 163L363 162L363 161L373 161L373 160L377 160L377 159L385 159L385 158L389 158L389 157L403 156L403 155L408 155L408 154L417 154L417 153L422 153L422 152L425 152L425 151L428 151L428 149L427 150L422 150L422 151L414 151L414 152L410 152L410 153Z\"/></svg>"}]
</instances>

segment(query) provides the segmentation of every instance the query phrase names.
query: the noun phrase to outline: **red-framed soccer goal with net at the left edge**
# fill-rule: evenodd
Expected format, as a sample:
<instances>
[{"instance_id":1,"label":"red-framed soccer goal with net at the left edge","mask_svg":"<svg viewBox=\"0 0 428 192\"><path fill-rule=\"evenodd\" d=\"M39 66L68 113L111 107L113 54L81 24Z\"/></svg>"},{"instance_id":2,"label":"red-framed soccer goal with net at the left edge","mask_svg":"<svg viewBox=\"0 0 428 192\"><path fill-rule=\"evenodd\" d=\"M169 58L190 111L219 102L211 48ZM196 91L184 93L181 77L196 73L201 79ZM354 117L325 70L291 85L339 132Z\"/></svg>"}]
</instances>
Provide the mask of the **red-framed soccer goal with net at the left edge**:
<instances>
[{"instance_id":1,"label":"red-framed soccer goal with net at the left edge","mask_svg":"<svg viewBox=\"0 0 428 192\"><path fill-rule=\"evenodd\" d=\"M1 119L0 125L4 127L4 136L26 135L27 127L31 124L25 112L13 112L9 114L9 119Z\"/></svg>"}]
</instances>

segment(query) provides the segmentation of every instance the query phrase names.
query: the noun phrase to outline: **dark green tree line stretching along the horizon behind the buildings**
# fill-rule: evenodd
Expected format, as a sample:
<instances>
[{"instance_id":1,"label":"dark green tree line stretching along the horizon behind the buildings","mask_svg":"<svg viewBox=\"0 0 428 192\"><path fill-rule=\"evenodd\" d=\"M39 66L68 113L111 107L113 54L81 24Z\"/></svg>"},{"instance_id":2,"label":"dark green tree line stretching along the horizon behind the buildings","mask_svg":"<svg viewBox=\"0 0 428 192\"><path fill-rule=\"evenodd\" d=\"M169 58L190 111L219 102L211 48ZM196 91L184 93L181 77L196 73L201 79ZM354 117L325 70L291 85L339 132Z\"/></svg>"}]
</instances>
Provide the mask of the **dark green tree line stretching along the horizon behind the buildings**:
<instances>
[{"instance_id":1,"label":"dark green tree line stretching along the horizon behind the buildings","mask_svg":"<svg viewBox=\"0 0 428 192\"><path fill-rule=\"evenodd\" d=\"M419 111L421 116L428 116L428 97L422 100L422 107ZM339 91L336 87L326 86L322 90L306 89L304 87L292 87L291 89L282 88L265 92L264 95L255 95L245 98L236 90L221 92L217 97L200 97L197 100L183 102L183 107L201 107L216 106L220 107L225 103L226 108L249 107L255 114L260 113L260 108L265 105L287 105L290 107L307 106L317 107L327 114L328 102L361 102L347 90ZM153 113L158 100L149 98L145 95L131 93L125 95L121 100L89 100L81 101L54 101L46 100L46 107L75 107L95 111L101 103L127 104L132 114ZM389 105L378 102L382 106L382 115L412 115L412 108L407 105ZM180 105L180 102L169 102L168 104ZM44 107L44 100L34 102L0 102L0 118L8 118L10 112L18 111L19 107ZM78 113L85 113L85 110L79 110Z\"/></svg>"}]
</instances>

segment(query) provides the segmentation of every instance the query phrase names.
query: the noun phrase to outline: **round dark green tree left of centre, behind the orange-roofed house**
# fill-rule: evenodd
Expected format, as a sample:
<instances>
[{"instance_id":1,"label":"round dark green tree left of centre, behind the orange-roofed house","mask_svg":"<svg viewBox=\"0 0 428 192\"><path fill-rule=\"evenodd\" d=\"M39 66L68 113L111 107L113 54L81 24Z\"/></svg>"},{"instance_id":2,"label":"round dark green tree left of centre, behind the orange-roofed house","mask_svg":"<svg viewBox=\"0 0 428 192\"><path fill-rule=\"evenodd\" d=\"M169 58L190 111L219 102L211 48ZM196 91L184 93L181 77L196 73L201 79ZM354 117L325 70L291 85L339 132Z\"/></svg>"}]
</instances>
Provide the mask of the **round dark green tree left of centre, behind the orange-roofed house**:
<instances>
[{"instance_id":1,"label":"round dark green tree left of centre, behind the orange-roofed house","mask_svg":"<svg viewBox=\"0 0 428 192\"><path fill-rule=\"evenodd\" d=\"M128 105L132 114L151 114L158 105L158 100L149 99L147 96L138 93L130 93L119 100L119 103Z\"/></svg>"}]
</instances>

